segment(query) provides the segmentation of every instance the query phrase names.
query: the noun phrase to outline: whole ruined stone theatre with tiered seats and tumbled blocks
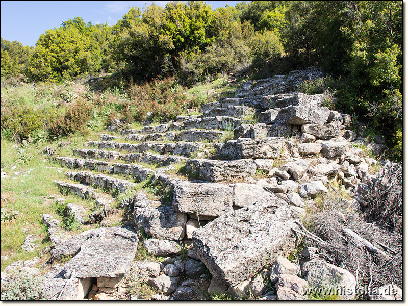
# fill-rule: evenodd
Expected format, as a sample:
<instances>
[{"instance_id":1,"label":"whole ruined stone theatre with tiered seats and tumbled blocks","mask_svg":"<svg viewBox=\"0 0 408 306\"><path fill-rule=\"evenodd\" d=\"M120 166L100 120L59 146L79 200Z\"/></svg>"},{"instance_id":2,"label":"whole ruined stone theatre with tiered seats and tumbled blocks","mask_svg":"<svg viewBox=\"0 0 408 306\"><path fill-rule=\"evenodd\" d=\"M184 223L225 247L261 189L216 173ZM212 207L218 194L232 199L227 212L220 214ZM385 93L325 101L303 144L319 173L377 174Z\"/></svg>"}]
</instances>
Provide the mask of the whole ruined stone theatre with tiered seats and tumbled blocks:
<instances>
[{"instance_id":1,"label":"whole ruined stone theatre with tiered seats and tumbled blocks","mask_svg":"<svg viewBox=\"0 0 408 306\"><path fill-rule=\"evenodd\" d=\"M305 246L300 264L287 259L299 251L301 220L314 199L334 190L361 210L359 184L375 179L377 160L349 130L350 115L325 107L324 95L289 92L319 75L308 69L248 81L235 97L203 105L201 116L141 129L116 122L100 141L54 156L65 169L66 181L55 181L61 192L98 208L85 216L70 207L69 214L100 227L64 236L58 221L43 215L54 244L50 262L70 258L45 275L48 298L138 300L129 287L135 279L158 292L155 300L225 293L303 300L304 288L323 279L355 288L353 274L316 259L316 248ZM385 148L369 146L377 154ZM152 199L140 182L161 186L164 196ZM127 221L110 226L104 220L120 199ZM134 260L140 249L164 260Z\"/></svg>"}]
</instances>

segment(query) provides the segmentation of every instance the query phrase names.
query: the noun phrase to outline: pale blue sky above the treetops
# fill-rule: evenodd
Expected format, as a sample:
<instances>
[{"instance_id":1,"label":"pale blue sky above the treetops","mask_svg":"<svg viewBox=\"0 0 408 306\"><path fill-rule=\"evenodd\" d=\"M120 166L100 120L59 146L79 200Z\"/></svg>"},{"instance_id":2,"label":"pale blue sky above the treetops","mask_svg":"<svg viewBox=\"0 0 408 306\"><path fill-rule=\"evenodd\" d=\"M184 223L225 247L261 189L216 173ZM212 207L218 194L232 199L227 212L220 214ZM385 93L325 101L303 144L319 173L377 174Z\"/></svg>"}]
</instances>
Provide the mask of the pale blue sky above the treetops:
<instances>
[{"instance_id":1,"label":"pale blue sky above the treetops","mask_svg":"<svg viewBox=\"0 0 408 306\"><path fill-rule=\"evenodd\" d=\"M165 6L168 1L155 1ZM184 1L186 2L186 1ZM206 1L213 9L241 1ZM58 28L63 21L82 17L86 23L110 25L132 6L143 8L151 1L0 1L0 32L3 39L35 46L46 30Z\"/></svg>"}]
</instances>

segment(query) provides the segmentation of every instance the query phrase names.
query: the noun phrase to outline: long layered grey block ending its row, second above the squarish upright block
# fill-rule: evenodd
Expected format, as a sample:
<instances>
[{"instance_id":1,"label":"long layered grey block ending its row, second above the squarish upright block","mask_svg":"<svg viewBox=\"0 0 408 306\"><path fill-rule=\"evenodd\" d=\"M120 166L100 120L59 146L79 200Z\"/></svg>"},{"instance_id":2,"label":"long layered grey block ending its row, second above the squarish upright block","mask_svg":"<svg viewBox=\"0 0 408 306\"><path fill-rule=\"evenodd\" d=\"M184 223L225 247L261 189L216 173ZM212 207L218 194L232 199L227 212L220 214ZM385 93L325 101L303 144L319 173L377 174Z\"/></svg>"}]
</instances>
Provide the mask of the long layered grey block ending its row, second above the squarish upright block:
<instances>
[{"instance_id":1,"label":"long layered grey block ending its row, second above the squarish upright block","mask_svg":"<svg viewBox=\"0 0 408 306\"><path fill-rule=\"evenodd\" d=\"M240 138L225 143L215 143L214 148L216 157L230 160L278 158L286 151L284 137Z\"/></svg>"}]
</instances>

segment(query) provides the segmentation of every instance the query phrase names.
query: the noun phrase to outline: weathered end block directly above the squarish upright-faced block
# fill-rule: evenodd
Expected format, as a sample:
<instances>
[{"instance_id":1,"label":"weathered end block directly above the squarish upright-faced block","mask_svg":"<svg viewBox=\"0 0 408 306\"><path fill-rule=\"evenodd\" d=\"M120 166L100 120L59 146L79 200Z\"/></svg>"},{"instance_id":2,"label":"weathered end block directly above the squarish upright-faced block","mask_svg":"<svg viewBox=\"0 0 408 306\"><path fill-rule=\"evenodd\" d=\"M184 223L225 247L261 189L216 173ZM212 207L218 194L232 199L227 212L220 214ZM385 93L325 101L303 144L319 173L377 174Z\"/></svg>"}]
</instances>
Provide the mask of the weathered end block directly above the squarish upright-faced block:
<instances>
[{"instance_id":1,"label":"weathered end block directly above the squarish upright-faced block","mask_svg":"<svg viewBox=\"0 0 408 306\"><path fill-rule=\"evenodd\" d=\"M210 182L243 180L257 171L257 165L251 159L234 161L190 159L186 162L186 168L200 179Z\"/></svg>"}]
</instances>

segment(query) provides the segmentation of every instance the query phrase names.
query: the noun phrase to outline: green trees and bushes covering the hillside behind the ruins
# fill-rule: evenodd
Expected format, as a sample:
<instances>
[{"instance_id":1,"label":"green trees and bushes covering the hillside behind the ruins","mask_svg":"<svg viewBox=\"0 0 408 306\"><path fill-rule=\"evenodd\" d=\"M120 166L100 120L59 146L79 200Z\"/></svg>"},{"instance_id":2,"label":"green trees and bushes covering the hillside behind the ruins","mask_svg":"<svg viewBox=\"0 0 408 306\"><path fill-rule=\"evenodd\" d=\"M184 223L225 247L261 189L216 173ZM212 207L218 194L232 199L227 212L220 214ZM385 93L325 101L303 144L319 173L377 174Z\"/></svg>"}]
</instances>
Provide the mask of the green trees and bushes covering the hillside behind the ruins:
<instances>
[{"instance_id":1,"label":"green trees and bushes covering the hillside behind the ruins","mask_svg":"<svg viewBox=\"0 0 408 306\"><path fill-rule=\"evenodd\" d=\"M252 1L216 10L203 2L171 2L164 8L131 8L112 27L75 17L47 30L35 47L2 39L2 88L22 81L34 88L30 98L12 106L2 89L2 137L21 141L50 125L49 135L59 137L79 127L58 127L57 118L72 116L68 108L50 111L43 104L37 111L32 96L50 93L36 92L39 82L52 90L54 82L116 71L111 82L91 91L129 94L134 86L171 80L176 92L248 67L250 79L260 79L313 65L326 76L307 83L304 91L330 94L332 108L354 115L370 137L384 135L392 157L401 159L400 1ZM69 87L51 96L75 100ZM75 103L84 104L75 111L88 110L86 99ZM165 116L171 115L167 110Z\"/></svg>"}]
</instances>

